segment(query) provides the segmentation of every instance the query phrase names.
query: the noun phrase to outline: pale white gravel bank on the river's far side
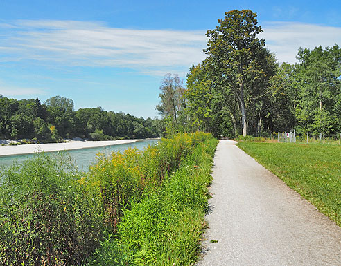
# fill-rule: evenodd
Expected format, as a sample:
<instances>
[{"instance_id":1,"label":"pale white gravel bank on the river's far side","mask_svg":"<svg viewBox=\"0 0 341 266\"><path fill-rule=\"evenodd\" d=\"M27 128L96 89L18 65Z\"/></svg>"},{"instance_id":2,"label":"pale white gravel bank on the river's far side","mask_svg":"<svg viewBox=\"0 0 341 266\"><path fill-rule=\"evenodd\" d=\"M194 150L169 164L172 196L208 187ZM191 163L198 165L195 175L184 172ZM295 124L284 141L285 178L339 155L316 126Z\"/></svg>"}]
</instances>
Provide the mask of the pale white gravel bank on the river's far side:
<instances>
[{"instance_id":1,"label":"pale white gravel bank on the river's far side","mask_svg":"<svg viewBox=\"0 0 341 266\"><path fill-rule=\"evenodd\" d=\"M125 144L137 142L138 140L105 140L105 141L89 141L89 140L68 140L64 143L44 143L44 144L25 144L17 146L0 146L0 156L19 155L35 153L40 151L62 151L76 150L86 148L96 148L100 146L110 146L116 144Z\"/></svg>"}]
</instances>

